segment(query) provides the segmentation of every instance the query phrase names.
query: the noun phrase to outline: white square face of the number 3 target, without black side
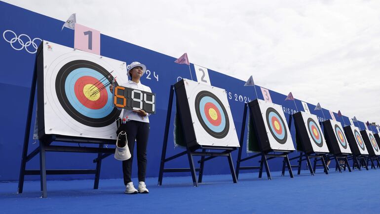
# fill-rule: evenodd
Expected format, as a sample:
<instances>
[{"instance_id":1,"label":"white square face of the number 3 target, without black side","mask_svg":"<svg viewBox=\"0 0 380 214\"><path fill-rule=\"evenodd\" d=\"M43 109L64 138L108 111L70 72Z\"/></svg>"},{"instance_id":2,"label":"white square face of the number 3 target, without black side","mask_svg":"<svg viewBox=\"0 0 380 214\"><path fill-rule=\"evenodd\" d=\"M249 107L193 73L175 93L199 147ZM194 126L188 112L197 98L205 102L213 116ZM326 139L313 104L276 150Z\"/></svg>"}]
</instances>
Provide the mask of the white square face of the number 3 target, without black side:
<instances>
[{"instance_id":1,"label":"white square face of the number 3 target, without black side","mask_svg":"<svg viewBox=\"0 0 380 214\"><path fill-rule=\"evenodd\" d=\"M295 150L282 107L263 100L258 100L258 102L264 119L270 148L273 150Z\"/></svg>"}]
</instances>

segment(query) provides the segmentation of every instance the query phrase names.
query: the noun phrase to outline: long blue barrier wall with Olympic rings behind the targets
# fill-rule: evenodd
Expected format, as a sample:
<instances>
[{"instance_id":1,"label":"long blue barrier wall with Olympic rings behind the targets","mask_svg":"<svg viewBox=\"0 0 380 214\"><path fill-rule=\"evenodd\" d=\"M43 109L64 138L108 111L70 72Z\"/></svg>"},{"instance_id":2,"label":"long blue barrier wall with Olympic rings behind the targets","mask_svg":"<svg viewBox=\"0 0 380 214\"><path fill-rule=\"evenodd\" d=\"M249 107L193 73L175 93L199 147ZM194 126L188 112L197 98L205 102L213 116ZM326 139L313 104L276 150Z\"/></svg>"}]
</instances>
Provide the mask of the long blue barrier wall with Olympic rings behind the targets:
<instances>
[{"instance_id":1,"label":"long blue barrier wall with Olympic rings behind the targets","mask_svg":"<svg viewBox=\"0 0 380 214\"><path fill-rule=\"evenodd\" d=\"M8 3L0 1L0 64L1 64L1 77L0 77L0 181L17 181L21 153L24 140L27 108L29 102L29 94L31 89L31 78L35 63L36 50L33 43L28 47L23 47L18 42L14 42L13 47L8 42L14 37L20 36L24 45L28 41L35 38L48 40L54 43L74 47L74 31L65 28L61 31L63 21L56 20ZM101 29L99 29L101 30ZM34 40L36 45L39 45L40 40ZM37 47L37 46L36 46ZM177 82L178 77L190 79L189 68L183 64L174 63L176 60L173 57L157 53L155 51L142 48L128 42L124 42L113 37L101 34L101 55L113 58L120 61L140 61L147 65L151 70L151 76L142 78L142 83L151 87L152 91L157 94L157 114L150 117L151 121L151 134L148 146L148 166L147 176L158 176L160 155L162 149L162 140L164 132L164 122L167 113L167 101L169 96L170 85ZM193 64L190 65L192 72L194 72ZM236 131L240 135L241 120L246 100L253 100L256 98L253 87L243 87L244 81L218 73L213 70L208 70L210 80L213 86L225 88L228 92L228 99L230 108L233 115L233 120L236 126ZM158 78L153 77L153 73ZM192 76L196 78L195 73ZM228 84L226 84L228 83ZM258 98L263 99L260 87L256 86ZM293 101L284 101L286 95L270 91L270 96L273 103L283 106L285 116L288 120L289 114L295 112ZM35 100L35 106L36 106ZM301 100L296 100L299 110L304 110ZM318 116L319 120L323 120L321 111L313 111L315 105L308 104L310 112ZM329 111L323 109L326 119L331 119ZM338 121L342 122L337 114L335 117ZM35 116L33 116L33 122ZM321 118L321 119L320 119ZM349 123L347 117L343 117L345 123ZM174 119L174 112L172 121ZM172 122L173 123L173 122ZM363 122L355 122L355 125L361 129L365 128ZM373 127L375 130L375 127ZM295 135L294 125L291 127L293 136ZM174 149L173 144L173 125L170 127L169 146L167 155L181 152L181 149ZM30 145L28 151L31 152L38 147L38 141L32 140L33 124L30 136ZM244 142L246 139L244 140ZM173 146L172 146L173 145ZM81 145L87 146L87 145ZM242 157L248 156L246 145L243 145ZM293 153L291 156L296 155ZM236 160L237 152L233 153L234 160ZM84 169L95 168L92 163L95 154L82 154L82 153L47 153L47 169ZM205 164L205 174L224 174L229 173L228 162L219 162L219 158L208 161ZM251 164L253 163L250 162ZM248 163L245 163L248 164ZM257 161L255 160L255 165ZM279 170L282 166L282 161L270 161L272 170ZM178 158L172 162L167 163L168 167L188 167L188 160L186 157ZM133 177L137 176L137 165L134 161ZM27 163L27 169L38 169L39 159L38 156ZM166 174L165 176L167 176ZM189 173L177 173L178 175L190 175ZM116 161L113 157L106 158L102 163L101 178L121 178L121 162ZM48 176L48 179L88 179L93 176L88 175L56 175ZM37 176L26 176L26 180L37 180ZM190 182L190 180L189 180Z\"/></svg>"}]
</instances>

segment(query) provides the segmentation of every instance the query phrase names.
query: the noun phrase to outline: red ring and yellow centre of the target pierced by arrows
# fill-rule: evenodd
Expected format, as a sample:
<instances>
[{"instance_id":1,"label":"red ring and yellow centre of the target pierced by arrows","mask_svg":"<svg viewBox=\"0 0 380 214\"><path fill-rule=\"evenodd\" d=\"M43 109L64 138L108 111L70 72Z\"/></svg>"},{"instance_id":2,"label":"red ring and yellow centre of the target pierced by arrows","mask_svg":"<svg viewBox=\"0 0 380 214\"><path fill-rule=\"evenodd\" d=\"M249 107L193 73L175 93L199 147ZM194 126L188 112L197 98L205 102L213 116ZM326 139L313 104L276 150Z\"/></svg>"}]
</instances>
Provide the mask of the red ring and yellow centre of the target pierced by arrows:
<instances>
[{"instance_id":1,"label":"red ring and yellow centre of the target pierced by arrows","mask_svg":"<svg viewBox=\"0 0 380 214\"><path fill-rule=\"evenodd\" d=\"M74 91L76 98L82 105L89 109L101 109L107 104L108 99L107 90L101 90L96 93L102 87L103 84L99 84L98 79L91 76L82 76L76 80Z\"/></svg>"}]
</instances>

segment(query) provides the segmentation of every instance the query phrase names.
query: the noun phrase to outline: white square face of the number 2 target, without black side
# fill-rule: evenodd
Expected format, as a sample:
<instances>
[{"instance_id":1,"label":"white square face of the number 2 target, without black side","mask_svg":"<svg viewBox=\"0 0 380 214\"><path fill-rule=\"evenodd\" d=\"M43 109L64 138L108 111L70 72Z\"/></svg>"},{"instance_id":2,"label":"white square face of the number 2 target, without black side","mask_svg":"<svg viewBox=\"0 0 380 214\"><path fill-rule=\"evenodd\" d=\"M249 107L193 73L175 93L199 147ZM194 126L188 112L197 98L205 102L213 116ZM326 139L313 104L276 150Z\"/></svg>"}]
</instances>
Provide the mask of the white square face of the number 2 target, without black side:
<instances>
[{"instance_id":1,"label":"white square face of the number 2 target, without black side","mask_svg":"<svg viewBox=\"0 0 380 214\"><path fill-rule=\"evenodd\" d=\"M187 79L184 83L197 143L239 147L226 90Z\"/></svg>"}]
</instances>

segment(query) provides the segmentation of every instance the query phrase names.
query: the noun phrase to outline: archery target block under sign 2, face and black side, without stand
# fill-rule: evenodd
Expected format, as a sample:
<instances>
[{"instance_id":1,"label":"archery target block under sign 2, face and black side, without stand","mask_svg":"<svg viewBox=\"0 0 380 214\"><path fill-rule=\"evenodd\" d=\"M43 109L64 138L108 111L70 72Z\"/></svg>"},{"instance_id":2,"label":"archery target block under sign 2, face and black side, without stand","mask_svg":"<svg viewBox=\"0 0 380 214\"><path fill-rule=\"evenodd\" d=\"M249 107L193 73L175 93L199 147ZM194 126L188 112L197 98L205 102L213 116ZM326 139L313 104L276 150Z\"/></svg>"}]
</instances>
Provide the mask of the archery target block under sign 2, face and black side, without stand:
<instances>
[{"instance_id":1,"label":"archery target block under sign 2, face and black side, without stand","mask_svg":"<svg viewBox=\"0 0 380 214\"><path fill-rule=\"evenodd\" d=\"M239 147L226 90L188 79L174 87L189 147Z\"/></svg>"}]
</instances>

